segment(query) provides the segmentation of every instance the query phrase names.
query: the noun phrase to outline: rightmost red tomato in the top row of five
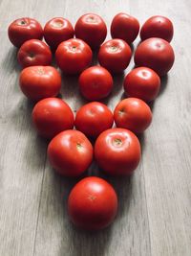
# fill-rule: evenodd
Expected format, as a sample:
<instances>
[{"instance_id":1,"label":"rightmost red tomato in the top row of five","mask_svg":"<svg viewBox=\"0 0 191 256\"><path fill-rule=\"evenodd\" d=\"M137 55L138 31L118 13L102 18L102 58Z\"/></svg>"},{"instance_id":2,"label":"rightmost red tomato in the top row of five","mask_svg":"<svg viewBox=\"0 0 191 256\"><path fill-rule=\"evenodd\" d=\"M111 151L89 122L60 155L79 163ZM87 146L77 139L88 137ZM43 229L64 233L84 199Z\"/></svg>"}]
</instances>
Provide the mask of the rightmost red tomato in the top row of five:
<instances>
[{"instance_id":1,"label":"rightmost red tomato in the top row of five","mask_svg":"<svg viewBox=\"0 0 191 256\"><path fill-rule=\"evenodd\" d=\"M173 38L174 29L173 24L167 17L152 16L146 20L140 30L141 40L150 37L159 37L170 42Z\"/></svg>"}]
</instances>

